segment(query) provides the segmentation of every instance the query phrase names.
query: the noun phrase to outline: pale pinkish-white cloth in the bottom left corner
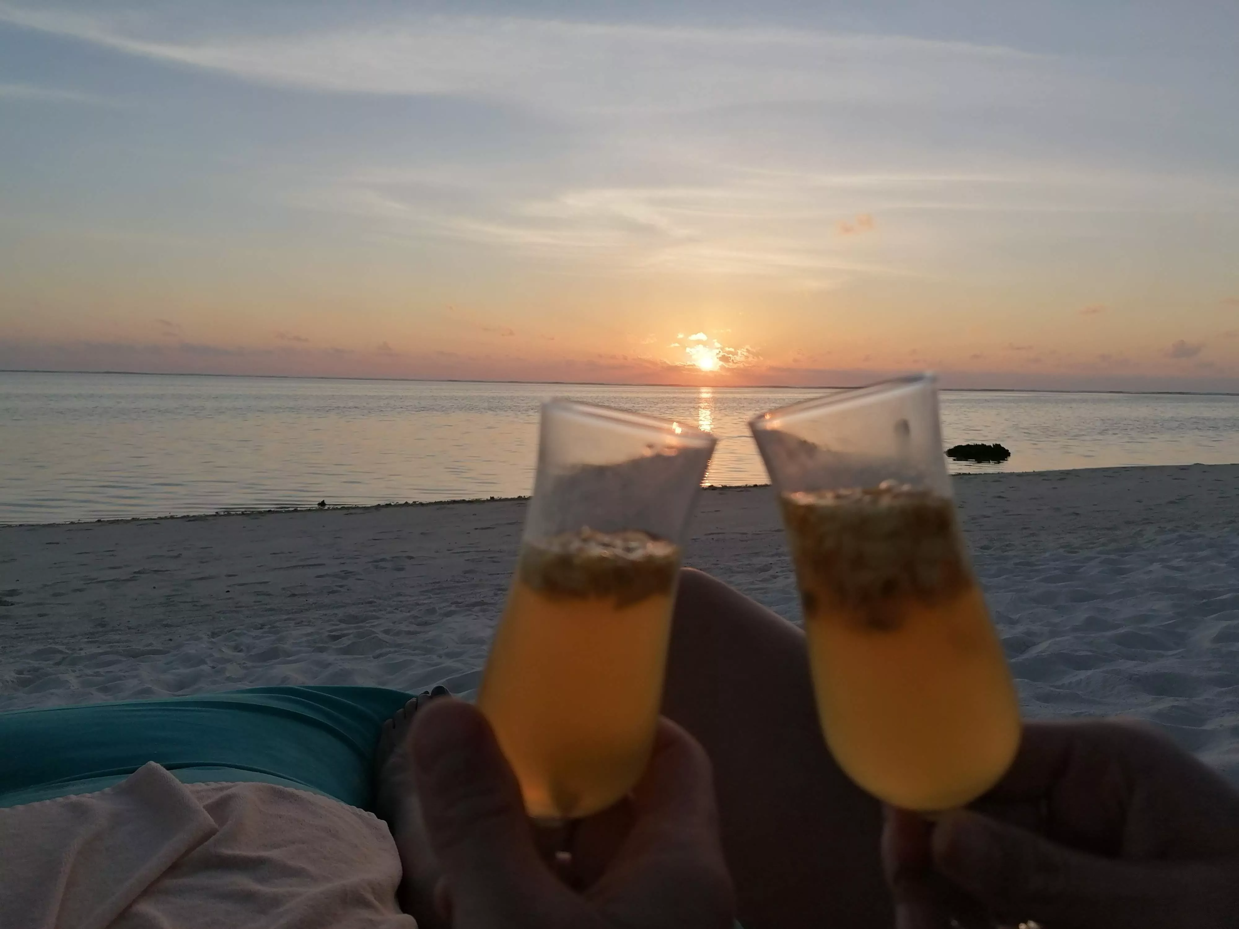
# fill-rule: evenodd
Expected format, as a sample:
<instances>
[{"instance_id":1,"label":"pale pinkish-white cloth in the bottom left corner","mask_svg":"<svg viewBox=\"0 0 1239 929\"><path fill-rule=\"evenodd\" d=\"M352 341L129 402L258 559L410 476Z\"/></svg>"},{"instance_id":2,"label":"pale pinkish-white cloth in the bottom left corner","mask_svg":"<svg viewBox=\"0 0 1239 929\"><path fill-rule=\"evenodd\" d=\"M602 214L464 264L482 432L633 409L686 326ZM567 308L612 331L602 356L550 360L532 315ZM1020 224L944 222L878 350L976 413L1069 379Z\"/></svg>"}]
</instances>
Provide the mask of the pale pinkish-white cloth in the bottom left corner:
<instances>
[{"instance_id":1,"label":"pale pinkish-white cloth in the bottom left corner","mask_svg":"<svg viewBox=\"0 0 1239 929\"><path fill-rule=\"evenodd\" d=\"M0 929L413 929L374 815L154 762L108 790L0 809Z\"/></svg>"}]
</instances>

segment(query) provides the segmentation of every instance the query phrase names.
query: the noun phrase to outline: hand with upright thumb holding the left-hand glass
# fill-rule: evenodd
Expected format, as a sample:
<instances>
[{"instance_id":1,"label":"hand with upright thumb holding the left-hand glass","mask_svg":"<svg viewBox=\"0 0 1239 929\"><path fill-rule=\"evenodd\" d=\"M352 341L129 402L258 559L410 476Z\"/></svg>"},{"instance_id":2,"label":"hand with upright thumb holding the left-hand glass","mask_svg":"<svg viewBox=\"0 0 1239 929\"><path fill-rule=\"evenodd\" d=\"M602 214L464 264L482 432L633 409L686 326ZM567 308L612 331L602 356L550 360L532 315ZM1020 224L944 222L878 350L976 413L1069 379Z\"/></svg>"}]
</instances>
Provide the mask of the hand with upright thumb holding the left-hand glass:
<instances>
[{"instance_id":1,"label":"hand with upright thumb holding the left-hand glass","mask_svg":"<svg viewBox=\"0 0 1239 929\"><path fill-rule=\"evenodd\" d=\"M418 712L411 746L441 867L435 905L455 929L732 927L710 762L674 723L658 723L626 809L574 830L570 874L539 852L522 789L476 707L434 701Z\"/></svg>"}]
</instances>

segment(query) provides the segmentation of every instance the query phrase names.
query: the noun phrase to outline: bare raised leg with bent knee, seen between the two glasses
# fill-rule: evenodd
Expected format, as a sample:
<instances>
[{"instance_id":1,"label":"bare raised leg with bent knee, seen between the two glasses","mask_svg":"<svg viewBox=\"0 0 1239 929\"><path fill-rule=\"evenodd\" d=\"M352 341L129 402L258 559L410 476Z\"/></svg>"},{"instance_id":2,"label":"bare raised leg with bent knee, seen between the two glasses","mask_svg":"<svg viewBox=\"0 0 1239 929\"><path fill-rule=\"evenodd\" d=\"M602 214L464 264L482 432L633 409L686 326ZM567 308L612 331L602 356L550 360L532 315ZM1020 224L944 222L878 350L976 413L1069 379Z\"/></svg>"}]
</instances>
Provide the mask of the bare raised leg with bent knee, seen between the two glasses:
<instances>
[{"instance_id":1,"label":"bare raised leg with bent knee, seen between the two glasses","mask_svg":"<svg viewBox=\"0 0 1239 929\"><path fill-rule=\"evenodd\" d=\"M826 751L804 633L686 569L663 712L714 762L722 842L746 929L890 927L881 810Z\"/></svg>"}]
</instances>

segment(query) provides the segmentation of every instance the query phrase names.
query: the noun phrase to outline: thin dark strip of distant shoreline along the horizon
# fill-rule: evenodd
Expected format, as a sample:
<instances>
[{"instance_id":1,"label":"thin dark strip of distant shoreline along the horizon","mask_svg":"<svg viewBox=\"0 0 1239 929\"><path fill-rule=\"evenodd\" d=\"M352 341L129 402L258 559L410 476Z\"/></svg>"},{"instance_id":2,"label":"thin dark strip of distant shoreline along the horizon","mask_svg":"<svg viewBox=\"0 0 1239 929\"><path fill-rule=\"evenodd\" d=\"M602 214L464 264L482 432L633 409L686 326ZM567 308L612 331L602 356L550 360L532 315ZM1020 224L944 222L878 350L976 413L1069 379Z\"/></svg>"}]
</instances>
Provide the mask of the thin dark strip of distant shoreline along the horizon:
<instances>
[{"instance_id":1,"label":"thin dark strip of distant shoreline along the horizon","mask_svg":"<svg viewBox=\"0 0 1239 929\"><path fill-rule=\"evenodd\" d=\"M0 368L0 374L116 374L142 378L234 378L238 380L343 380L390 384L546 384L549 386L681 388L685 390L854 390L860 384L629 384L616 380L512 380L479 378L339 378L328 374L212 374L209 372L57 370L53 368ZM942 388L947 394L1118 394L1124 396L1239 396L1235 390L1077 390L1069 388Z\"/></svg>"}]
</instances>

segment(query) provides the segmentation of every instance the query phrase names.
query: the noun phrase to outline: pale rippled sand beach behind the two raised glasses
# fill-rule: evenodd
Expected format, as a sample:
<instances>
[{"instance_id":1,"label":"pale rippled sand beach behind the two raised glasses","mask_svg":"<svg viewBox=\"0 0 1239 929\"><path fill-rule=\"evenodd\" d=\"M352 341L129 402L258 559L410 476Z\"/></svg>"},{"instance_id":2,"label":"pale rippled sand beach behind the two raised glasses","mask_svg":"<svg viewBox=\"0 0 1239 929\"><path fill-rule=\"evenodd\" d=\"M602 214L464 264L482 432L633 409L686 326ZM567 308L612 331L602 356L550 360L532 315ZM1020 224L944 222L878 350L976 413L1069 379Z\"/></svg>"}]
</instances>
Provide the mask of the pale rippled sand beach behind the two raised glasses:
<instances>
[{"instance_id":1,"label":"pale rippled sand beach behind the two raised glasses","mask_svg":"<svg viewBox=\"0 0 1239 929\"><path fill-rule=\"evenodd\" d=\"M955 479L1028 716L1126 713L1239 782L1239 464ZM472 692L520 500L0 528L0 710L271 684ZM768 488L688 562L789 619Z\"/></svg>"}]
</instances>

